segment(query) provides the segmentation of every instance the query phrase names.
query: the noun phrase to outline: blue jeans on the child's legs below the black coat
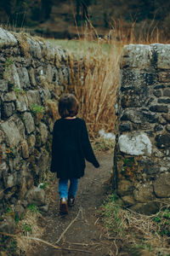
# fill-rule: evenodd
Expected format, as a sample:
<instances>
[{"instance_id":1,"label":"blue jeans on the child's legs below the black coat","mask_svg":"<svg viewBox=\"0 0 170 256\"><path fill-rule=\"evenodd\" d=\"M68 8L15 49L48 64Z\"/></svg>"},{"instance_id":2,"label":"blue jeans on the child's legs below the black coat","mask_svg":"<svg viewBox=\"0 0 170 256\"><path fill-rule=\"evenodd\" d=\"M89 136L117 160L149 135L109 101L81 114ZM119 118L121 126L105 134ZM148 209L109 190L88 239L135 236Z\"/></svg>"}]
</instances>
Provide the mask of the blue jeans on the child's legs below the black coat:
<instances>
[{"instance_id":1,"label":"blue jeans on the child's legs below the black coat","mask_svg":"<svg viewBox=\"0 0 170 256\"><path fill-rule=\"evenodd\" d=\"M68 179L59 178L59 199L65 197L68 199L68 196L76 196L77 195L77 187L78 187L78 178L70 178L70 186L68 190Z\"/></svg>"}]
</instances>

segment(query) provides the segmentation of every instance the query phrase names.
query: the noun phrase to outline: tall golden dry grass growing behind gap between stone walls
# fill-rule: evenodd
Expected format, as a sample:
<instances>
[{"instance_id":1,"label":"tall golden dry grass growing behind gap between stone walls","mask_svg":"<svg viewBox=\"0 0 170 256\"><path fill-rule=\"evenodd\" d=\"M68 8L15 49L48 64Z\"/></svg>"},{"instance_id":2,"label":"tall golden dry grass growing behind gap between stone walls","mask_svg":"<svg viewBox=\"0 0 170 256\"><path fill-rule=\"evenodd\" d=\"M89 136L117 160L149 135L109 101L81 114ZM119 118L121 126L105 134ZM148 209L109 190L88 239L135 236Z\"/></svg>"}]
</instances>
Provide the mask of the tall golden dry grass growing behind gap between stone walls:
<instances>
[{"instance_id":1,"label":"tall golden dry grass growing behind gap between stone walls","mask_svg":"<svg viewBox=\"0 0 170 256\"><path fill-rule=\"evenodd\" d=\"M90 22L82 31L83 37L79 35L79 43L88 44L88 48L84 50L83 58L82 55L77 55L77 60L73 58L77 67L73 67L72 61L74 71L71 84L74 84L73 92L80 102L80 116L86 120L90 136L97 137L100 129L114 131L114 105L123 46L159 43L159 31L153 22L147 28L141 27L140 33L136 35L135 22L125 29L122 21L115 20L111 32L105 38L99 38Z\"/></svg>"}]
</instances>

